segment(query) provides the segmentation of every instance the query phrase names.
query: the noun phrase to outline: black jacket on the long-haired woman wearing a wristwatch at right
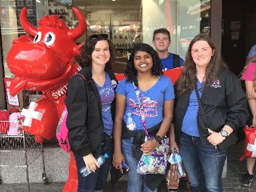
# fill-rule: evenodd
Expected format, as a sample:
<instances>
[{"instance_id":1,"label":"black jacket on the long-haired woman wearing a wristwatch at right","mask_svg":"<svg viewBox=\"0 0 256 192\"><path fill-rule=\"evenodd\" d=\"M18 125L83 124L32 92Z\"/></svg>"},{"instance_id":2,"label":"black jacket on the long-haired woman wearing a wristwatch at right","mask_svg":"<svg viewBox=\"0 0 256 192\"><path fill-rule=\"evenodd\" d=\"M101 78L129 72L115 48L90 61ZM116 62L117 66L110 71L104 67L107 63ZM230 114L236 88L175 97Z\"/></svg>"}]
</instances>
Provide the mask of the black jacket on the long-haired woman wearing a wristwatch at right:
<instances>
[{"instance_id":1,"label":"black jacket on the long-haired woman wearing a wristwatch at right","mask_svg":"<svg viewBox=\"0 0 256 192\"><path fill-rule=\"evenodd\" d=\"M200 107L198 109L198 131L200 137L205 140L209 136L206 126L209 126L211 130L219 131L223 126L228 125L235 133L245 126L248 118L247 99L240 80L229 70L222 70L218 75L218 80L210 86L206 86L201 97L207 125L204 123ZM174 90L177 92L177 84L174 86ZM175 101L174 127L175 139L178 143L190 94L191 91L176 98Z\"/></svg>"}]
</instances>

